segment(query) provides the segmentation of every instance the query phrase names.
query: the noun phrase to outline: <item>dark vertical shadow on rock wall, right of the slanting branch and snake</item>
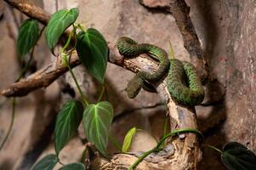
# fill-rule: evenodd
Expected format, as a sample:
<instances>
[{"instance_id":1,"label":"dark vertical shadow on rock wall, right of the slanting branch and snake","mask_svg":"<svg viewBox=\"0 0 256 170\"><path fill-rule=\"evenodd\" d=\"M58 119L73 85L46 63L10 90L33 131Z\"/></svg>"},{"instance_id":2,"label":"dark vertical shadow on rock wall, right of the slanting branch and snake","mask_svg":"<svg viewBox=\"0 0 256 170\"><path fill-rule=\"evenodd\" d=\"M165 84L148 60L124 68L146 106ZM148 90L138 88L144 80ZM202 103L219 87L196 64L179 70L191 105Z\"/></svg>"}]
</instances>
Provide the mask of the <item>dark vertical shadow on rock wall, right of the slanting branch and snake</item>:
<instances>
[{"instance_id":1,"label":"dark vertical shadow on rock wall, right of the slanting branch and snake","mask_svg":"<svg viewBox=\"0 0 256 170\"><path fill-rule=\"evenodd\" d=\"M207 87L207 98L208 107L212 107L207 117L198 118L198 126L205 128L203 131L205 135L205 143L211 144L219 149L227 143L226 134L222 130L225 119L226 119L226 105L225 105L225 88L219 82L215 75L213 75L213 68L216 69L214 64L214 57L216 56L216 50L218 50L217 43L219 38L219 29L217 19L217 11L213 10L213 5L220 5L221 2L209 1L209 0L192 0L196 7L196 11L201 15L202 21L205 28L205 52L208 56L207 61L210 67L210 81L206 85ZM217 4L216 4L217 3ZM216 62L216 59L215 59ZM222 72L225 74L225 71ZM203 114L203 113L202 113ZM201 130L201 129L200 129ZM225 170L226 168L221 163L219 153L208 148L202 148L202 161L199 164L198 169L209 169L209 170Z\"/></svg>"}]
</instances>

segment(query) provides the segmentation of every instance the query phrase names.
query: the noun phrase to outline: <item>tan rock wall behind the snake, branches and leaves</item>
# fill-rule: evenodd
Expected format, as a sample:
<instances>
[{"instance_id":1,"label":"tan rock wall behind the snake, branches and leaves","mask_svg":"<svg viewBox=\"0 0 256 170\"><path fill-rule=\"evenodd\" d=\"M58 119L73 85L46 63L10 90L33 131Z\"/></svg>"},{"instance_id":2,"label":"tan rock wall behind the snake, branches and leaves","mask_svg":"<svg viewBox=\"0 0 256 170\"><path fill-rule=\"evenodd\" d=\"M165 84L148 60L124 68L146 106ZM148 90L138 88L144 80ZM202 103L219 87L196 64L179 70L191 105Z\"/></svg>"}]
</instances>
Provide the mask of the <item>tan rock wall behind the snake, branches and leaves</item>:
<instances>
[{"instance_id":1,"label":"tan rock wall behind the snake, branches and leaves","mask_svg":"<svg viewBox=\"0 0 256 170\"><path fill-rule=\"evenodd\" d=\"M30 0L49 13L60 8L78 7L78 21L82 26L100 30L108 42L118 37L133 37L169 51L172 42L175 56L189 60L183 40L171 14L154 6L156 0ZM141 5L144 3L144 5ZM229 141L247 145L256 152L256 1L255 0L187 0L191 20L206 51L210 66L210 80L206 84L207 97L196 106L198 127L206 136L206 143L221 148ZM19 76L22 65L15 53L18 27L26 16L0 2L0 90ZM44 38L37 45L30 72L52 62ZM74 69L83 91L91 100L97 99L100 88L82 65ZM28 73L29 74L29 73ZM108 64L106 85L108 98L114 105L115 119L111 134L122 143L128 129L138 127L160 138L163 132L165 106L157 94L142 91L136 99L128 99L125 88L134 73ZM39 157L54 153L54 116L60 106L71 97L78 98L69 73L46 89L39 89L27 97L17 99L14 128L0 152L0 169L29 169ZM0 97L0 141L9 127L11 99ZM151 141L148 135L138 139ZM82 154L82 131L61 151L60 159L77 161ZM145 142L147 141L147 142ZM139 142L138 142L139 143ZM149 142L150 143L150 142ZM139 143L141 145L141 143ZM145 145L141 150L147 150ZM109 151L117 149L109 144ZM225 169L218 153L203 149L199 169Z\"/></svg>"}]
</instances>

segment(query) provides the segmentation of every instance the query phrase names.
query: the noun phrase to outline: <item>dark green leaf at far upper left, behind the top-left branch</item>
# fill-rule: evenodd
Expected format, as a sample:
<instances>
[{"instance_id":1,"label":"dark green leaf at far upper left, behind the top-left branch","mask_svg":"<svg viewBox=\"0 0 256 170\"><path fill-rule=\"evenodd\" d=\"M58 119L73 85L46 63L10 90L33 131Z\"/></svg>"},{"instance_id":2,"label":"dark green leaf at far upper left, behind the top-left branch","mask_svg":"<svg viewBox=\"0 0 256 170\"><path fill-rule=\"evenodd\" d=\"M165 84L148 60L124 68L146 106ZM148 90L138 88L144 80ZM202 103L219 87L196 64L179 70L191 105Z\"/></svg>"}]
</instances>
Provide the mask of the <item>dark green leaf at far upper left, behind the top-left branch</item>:
<instances>
[{"instance_id":1,"label":"dark green leaf at far upper left, behind the top-left branch","mask_svg":"<svg viewBox=\"0 0 256 170\"><path fill-rule=\"evenodd\" d=\"M19 28L17 41L17 53L21 57L28 54L39 38L39 26L37 20L25 20ZM22 58L21 58L22 59Z\"/></svg>"}]
</instances>

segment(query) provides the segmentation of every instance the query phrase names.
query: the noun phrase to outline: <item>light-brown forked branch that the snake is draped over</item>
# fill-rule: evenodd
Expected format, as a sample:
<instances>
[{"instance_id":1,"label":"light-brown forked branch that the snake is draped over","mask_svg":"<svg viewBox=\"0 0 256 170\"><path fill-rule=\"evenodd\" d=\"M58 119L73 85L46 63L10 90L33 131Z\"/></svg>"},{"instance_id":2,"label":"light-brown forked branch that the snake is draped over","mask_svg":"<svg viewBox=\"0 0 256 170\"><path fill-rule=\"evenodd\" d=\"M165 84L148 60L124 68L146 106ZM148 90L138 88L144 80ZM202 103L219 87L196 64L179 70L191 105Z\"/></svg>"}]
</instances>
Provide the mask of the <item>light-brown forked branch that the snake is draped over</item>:
<instances>
[{"instance_id":1,"label":"light-brown forked branch that the snake is draped over","mask_svg":"<svg viewBox=\"0 0 256 170\"><path fill-rule=\"evenodd\" d=\"M22 0L4 1L14 8L18 8L20 12L29 17L39 20L44 25L46 25L49 20L49 14L47 12L32 4L25 3ZM177 8L174 7L173 10L178 10L179 8ZM185 13L185 11L180 10L180 13ZM174 18L175 16L176 15L174 15ZM179 24L182 26L182 22ZM191 32L191 34L192 33L195 32ZM156 68L156 63L143 54L134 59L126 59L119 54L114 43L109 42L108 46L110 49L109 62L111 63L120 65L123 68L134 72L140 70L151 71L149 68ZM198 57L198 59L200 59L200 57ZM72 67L80 64L76 52L71 55L70 61ZM46 68L37 71L21 82L14 83L9 88L4 89L1 94L7 97L26 95L37 88L48 87L49 84L64 74L65 71L67 71L67 68L62 65L61 56L58 56L54 64L48 65ZM156 82L153 85L156 87L157 93L168 106L167 114L171 119L171 129L196 128L195 109L177 105L168 93L165 80ZM105 161L100 158L96 167L99 167L99 169L126 169L136 161L138 155L139 154L116 154L110 161ZM139 166L136 167L136 169L196 169L196 163L197 161L200 161L200 159L201 151L198 146L196 135L188 133L179 135L179 137L174 140L169 140L165 150L147 156L144 161L139 163Z\"/></svg>"}]
</instances>

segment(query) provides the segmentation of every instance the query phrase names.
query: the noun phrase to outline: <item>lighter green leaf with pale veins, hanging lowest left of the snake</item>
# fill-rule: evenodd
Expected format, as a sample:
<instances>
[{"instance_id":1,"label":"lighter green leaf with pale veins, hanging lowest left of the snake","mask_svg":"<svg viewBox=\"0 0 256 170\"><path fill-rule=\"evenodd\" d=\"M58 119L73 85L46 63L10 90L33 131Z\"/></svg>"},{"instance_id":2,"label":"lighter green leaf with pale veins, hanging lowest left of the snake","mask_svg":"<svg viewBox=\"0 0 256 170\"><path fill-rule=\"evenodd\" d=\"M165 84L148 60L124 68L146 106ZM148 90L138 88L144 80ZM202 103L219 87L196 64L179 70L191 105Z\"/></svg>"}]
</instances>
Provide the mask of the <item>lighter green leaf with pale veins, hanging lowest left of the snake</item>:
<instances>
[{"instance_id":1,"label":"lighter green leaf with pale veins, hanging lowest left of the snake","mask_svg":"<svg viewBox=\"0 0 256 170\"><path fill-rule=\"evenodd\" d=\"M104 156L113 116L113 107L107 101L88 105L83 112L82 125L86 137Z\"/></svg>"}]
</instances>

